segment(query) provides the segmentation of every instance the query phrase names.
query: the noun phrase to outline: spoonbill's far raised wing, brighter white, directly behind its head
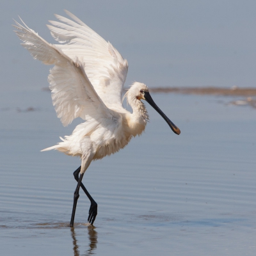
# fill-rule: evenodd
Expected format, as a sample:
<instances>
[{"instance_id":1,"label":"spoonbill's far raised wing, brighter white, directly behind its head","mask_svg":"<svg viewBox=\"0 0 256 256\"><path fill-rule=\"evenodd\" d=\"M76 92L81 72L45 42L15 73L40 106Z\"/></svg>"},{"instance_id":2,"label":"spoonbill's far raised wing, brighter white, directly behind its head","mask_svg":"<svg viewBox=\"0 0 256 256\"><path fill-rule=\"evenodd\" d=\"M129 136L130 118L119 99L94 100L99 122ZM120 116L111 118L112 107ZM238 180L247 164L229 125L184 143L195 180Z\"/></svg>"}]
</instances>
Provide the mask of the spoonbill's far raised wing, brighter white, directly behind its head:
<instances>
[{"instance_id":1,"label":"spoonbill's far raised wing, brighter white, directly behind its head","mask_svg":"<svg viewBox=\"0 0 256 256\"><path fill-rule=\"evenodd\" d=\"M108 108L124 110L122 90L128 71L127 60L95 31L72 13L65 11L73 20L60 15L60 21L49 21L51 35L60 42L61 49L72 60L84 62L84 70L100 99Z\"/></svg>"}]
</instances>

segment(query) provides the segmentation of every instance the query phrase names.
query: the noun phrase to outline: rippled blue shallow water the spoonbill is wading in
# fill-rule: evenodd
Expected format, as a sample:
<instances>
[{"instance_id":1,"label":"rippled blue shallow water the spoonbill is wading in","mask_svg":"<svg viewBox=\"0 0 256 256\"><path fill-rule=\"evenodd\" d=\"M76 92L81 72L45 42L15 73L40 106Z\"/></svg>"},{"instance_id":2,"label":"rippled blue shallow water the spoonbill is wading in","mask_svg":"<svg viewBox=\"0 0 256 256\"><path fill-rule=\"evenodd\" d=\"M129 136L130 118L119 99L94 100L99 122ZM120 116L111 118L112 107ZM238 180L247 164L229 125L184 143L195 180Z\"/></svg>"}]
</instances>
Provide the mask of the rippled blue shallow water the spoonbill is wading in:
<instances>
[{"instance_id":1,"label":"rippled blue shallow water the spoonbill is wading in","mask_svg":"<svg viewBox=\"0 0 256 256\"><path fill-rule=\"evenodd\" d=\"M153 94L181 131L148 106L145 134L91 164L68 227L79 159L40 152L62 127L48 92L0 96L3 255L255 255L255 109L225 97ZM12 95L12 97L10 97Z\"/></svg>"}]
</instances>

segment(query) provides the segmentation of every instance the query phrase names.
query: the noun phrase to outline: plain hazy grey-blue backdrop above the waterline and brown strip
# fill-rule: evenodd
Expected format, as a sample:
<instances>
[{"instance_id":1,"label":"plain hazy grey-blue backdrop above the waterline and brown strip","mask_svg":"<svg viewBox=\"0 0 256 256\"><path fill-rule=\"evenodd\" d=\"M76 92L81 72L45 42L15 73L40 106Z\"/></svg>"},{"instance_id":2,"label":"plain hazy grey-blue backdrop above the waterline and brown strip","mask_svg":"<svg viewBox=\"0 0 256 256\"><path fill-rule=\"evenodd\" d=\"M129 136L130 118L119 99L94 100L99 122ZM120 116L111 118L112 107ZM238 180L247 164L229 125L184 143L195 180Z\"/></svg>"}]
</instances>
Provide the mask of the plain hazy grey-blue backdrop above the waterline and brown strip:
<instances>
[{"instance_id":1,"label":"plain hazy grey-blue backdrop above the waterline and brown strip","mask_svg":"<svg viewBox=\"0 0 256 256\"><path fill-rule=\"evenodd\" d=\"M74 13L127 59L125 86L256 86L256 1L1 0L1 87L42 88L48 70L13 33L20 17L54 43L45 26Z\"/></svg>"}]
</instances>

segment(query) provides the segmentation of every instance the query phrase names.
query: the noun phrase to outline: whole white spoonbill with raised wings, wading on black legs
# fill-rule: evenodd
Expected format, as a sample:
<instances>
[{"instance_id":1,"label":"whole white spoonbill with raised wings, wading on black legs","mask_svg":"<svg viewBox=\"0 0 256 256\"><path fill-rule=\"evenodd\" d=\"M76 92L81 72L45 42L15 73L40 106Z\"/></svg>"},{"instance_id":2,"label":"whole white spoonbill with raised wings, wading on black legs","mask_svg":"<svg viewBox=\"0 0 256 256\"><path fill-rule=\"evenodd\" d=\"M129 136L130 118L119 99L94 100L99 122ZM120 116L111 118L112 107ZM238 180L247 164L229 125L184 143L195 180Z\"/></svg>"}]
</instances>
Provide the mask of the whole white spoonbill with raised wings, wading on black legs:
<instances>
[{"instance_id":1,"label":"whole white spoonbill with raised wings, wading on black legs","mask_svg":"<svg viewBox=\"0 0 256 256\"><path fill-rule=\"evenodd\" d=\"M155 108L173 132L180 134L180 130L157 107L143 83L132 84L124 95L132 113L123 108L127 60L75 15L65 12L73 20L55 15L60 21L49 21L51 25L47 25L60 44L49 44L21 19L23 26L16 21L13 26L22 46L34 59L45 65L54 65L48 81L52 103L62 124L67 126L77 117L86 120L77 125L70 136L61 138L58 145L42 150L55 149L69 156L81 157L81 166L74 172L77 187L70 220L70 227L73 227L80 187L91 202L88 222L93 225L97 216L97 203L82 183L90 163L118 152L132 137L145 130L148 113L141 100Z\"/></svg>"}]
</instances>

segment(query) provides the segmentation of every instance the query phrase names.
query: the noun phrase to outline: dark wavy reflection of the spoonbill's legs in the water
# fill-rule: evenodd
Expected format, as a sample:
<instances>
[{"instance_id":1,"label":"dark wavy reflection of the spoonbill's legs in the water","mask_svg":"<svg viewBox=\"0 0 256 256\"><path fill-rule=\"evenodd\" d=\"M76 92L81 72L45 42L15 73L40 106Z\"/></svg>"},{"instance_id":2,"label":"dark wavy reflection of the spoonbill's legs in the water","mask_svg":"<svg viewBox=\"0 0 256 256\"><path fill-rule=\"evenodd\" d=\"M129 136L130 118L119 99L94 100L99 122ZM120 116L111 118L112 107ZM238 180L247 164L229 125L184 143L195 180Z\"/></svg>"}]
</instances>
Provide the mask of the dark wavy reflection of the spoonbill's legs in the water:
<instances>
[{"instance_id":1,"label":"dark wavy reflection of the spoonbill's legs in the water","mask_svg":"<svg viewBox=\"0 0 256 256\"><path fill-rule=\"evenodd\" d=\"M80 256L79 246L77 245L77 239L76 239L76 232L75 228L70 228L71 230L71 236L73 239L73 250L74 250L74 256ZM89 238L89 244L88 244L88 250L83 254L84 256L89 256L95 254L93 252L97 248L97 231L95 230L95 227L88 227L88 238ZM82 254L81 254L82 255Z\"/></svg>"}]
</instances>

